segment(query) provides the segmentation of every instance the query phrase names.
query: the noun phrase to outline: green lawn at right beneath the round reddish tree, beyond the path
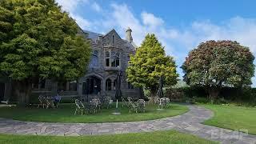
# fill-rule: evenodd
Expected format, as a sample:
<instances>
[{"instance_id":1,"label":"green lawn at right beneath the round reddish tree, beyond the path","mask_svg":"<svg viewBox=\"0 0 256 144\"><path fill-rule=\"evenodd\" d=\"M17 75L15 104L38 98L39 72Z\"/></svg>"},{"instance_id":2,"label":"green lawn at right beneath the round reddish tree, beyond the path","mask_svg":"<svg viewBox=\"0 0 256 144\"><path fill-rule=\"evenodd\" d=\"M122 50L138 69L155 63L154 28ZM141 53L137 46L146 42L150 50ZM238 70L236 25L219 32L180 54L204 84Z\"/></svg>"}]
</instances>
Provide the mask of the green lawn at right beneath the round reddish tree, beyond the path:
<instances>
[{"instance_id":1,"label":"green lawn at right beneath the round reddish tree, beyond the path","mask_svg":"<svg viewBox=\"0 0 256 144\"><path fill-rule=\"evenodd\" d=\"M204 124L230 130L248 130L256 134L256 108L226 105L202 105L214 111L214 117Z\"/></svg>"}]
</instances>

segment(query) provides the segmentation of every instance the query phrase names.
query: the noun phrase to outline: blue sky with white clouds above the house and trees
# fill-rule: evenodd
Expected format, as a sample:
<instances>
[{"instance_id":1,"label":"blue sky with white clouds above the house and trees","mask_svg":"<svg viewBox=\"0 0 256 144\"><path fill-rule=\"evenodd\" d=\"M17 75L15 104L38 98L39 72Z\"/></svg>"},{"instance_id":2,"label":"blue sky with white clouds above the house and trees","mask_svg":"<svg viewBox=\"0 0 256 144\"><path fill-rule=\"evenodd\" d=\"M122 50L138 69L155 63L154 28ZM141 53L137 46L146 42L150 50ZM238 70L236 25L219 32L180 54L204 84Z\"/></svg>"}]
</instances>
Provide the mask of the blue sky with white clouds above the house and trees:
<instances>
[{"instance_id":1,"label":"blue sky with white clouds above the house and trees","mask_svg":"<svg viewBox=\"0 0 256 144\"><path fill-rule=\"evenodd\" d=\"M115 29L122 38L129 26L140 46L154 33L175 58L178 73L186 55L200 42L230 39L256 55L256 1L246 0L57 0L79 26L100 34ZM256 62L254 62L256 63ZM256 78L253 78L256 86Z\"/></svg>"}]
</instances>

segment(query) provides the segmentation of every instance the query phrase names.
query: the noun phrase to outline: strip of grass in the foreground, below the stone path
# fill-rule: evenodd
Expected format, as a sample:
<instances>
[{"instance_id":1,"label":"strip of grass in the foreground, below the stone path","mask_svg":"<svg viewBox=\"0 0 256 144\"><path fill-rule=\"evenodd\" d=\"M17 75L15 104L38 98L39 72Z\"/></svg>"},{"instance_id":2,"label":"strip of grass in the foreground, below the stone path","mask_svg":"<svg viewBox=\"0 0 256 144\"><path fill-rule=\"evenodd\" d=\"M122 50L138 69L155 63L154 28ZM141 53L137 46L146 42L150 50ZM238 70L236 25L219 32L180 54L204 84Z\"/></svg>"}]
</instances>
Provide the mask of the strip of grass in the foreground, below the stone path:
<instances>
[{"instance_id":1,"label":"strip of grass in the foreground, below the stone path","mask_svg":"<svg viewBox=\"0 0 256 144\"><path fill-rule=\"evenodd\" d=\"M114 134L98 136L58 137L0 134L0 143L42 144L42 143L173 143L173 144L211 144L217 143L198 138L190 134L182 134L174 130L150 133Z\"/></svg>"}]
</instances>

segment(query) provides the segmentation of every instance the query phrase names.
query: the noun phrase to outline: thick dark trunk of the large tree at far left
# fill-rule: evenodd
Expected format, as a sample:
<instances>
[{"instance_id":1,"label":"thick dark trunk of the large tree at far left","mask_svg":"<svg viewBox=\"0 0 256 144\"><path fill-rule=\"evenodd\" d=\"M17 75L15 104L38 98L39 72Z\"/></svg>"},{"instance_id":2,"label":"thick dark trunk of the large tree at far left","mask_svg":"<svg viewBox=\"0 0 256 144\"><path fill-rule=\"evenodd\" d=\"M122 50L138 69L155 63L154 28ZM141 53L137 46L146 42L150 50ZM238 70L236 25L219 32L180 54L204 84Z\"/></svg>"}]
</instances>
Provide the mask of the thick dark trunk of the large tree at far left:
<instances>
[{"instance_id":1,"label":"thick dark trunk of the large tree at far left","mask_svg":"<svg viewBox=\"0 0 256 144\"><path fill-rule=\"evenodd\" d=\"M32 82L29 79L15 82L15 94L17 95L18 104L26 106L30 104L30 95L32 91Z\"/></svg>"}]
</instances>

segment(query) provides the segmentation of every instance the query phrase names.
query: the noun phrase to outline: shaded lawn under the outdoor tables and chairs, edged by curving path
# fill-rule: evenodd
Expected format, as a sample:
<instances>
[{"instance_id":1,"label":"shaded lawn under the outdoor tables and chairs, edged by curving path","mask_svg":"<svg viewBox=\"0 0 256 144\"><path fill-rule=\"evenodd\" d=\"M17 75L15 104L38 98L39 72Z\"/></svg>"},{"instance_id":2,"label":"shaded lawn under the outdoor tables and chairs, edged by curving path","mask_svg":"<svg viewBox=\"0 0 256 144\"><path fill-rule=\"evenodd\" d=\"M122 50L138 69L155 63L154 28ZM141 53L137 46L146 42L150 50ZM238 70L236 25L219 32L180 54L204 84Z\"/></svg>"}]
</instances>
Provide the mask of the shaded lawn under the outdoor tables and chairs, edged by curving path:
<instances>
[{"instance_id":1,"label":"shaded lawn under the outdoor tables and chairs, edged by curving path","mask_svg":"<svg viewBox=\"0 0 256 144\"><path fill-rule=\"evenodd\" d=\"M103 109L97 114L74 115L74 104L62 104L58 109L37 107L0 107L0 118L13 118L36 122L131 122L157 118L166 118L188 111L186 106L170 104L166 110L157 110L157 106L147 105L146 113L129 113L128 108L120 107L121 115L114 115L114 106Z\"/></svg>"}]
</instances>

